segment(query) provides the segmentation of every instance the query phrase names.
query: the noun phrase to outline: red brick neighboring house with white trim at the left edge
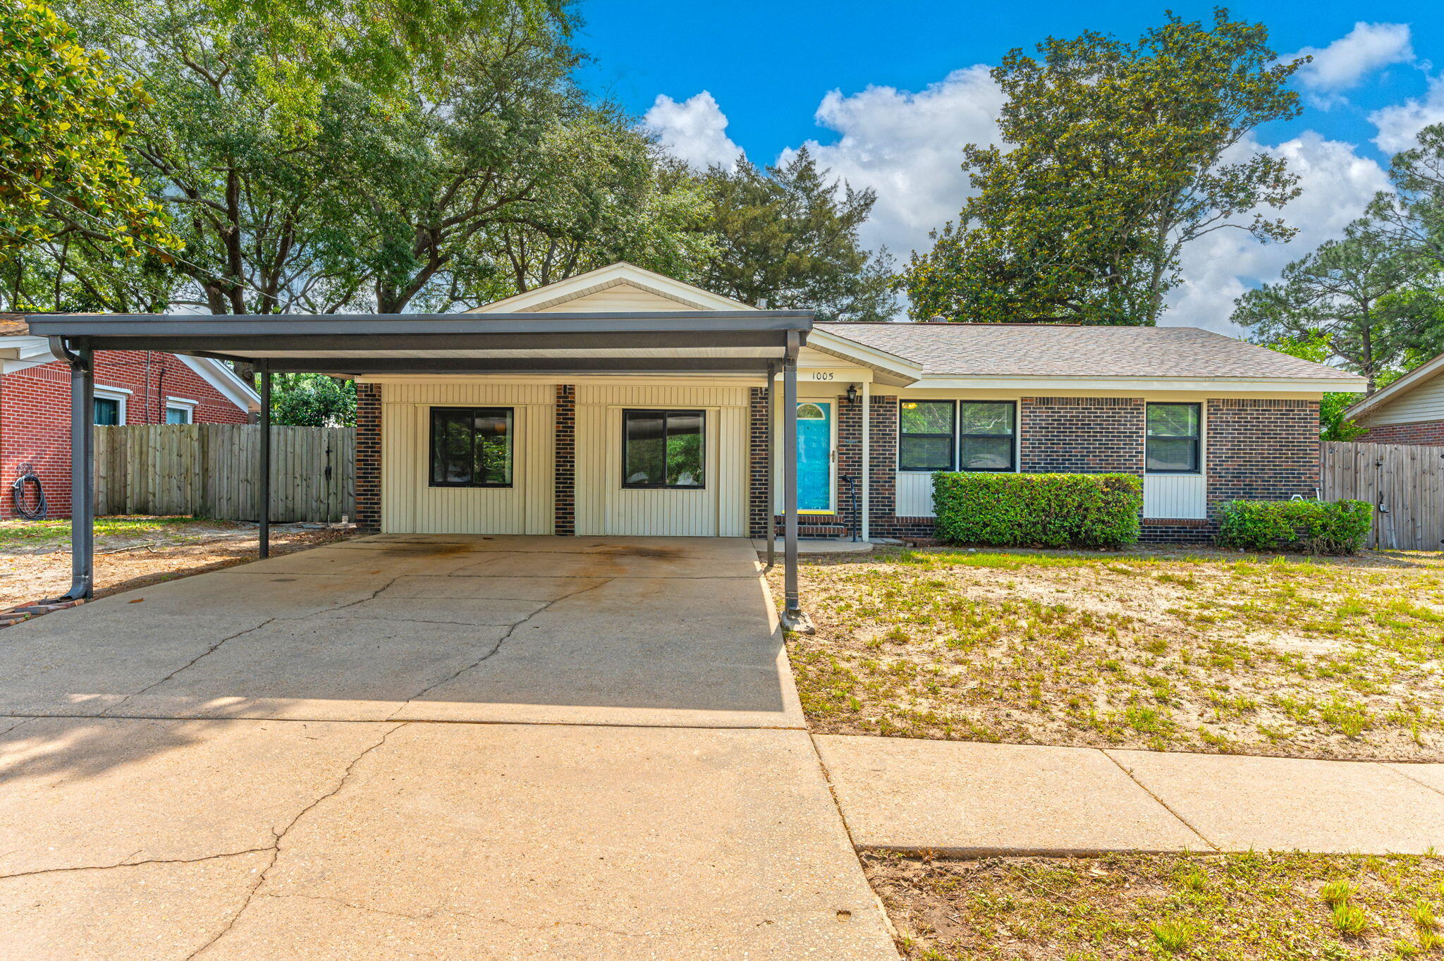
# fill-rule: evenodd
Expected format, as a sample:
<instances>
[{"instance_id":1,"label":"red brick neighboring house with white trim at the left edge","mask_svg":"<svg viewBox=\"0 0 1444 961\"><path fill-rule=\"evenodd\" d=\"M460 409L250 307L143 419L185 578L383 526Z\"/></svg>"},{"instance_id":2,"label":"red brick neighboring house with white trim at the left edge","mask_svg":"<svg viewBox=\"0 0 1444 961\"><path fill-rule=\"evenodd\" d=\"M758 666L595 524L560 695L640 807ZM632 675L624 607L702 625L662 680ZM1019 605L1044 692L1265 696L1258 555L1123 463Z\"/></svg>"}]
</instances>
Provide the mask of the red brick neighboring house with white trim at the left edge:
<instances>
[{"instance_id":1,"label":"red brick neighboring house with white trim at the left edge","mask_svg":"<svg viewBox=\"0 0 1444 961\"><path fill-rule=\"evenodd\" d=\"M244 424L260 398L219 361L156 351L95 355L97 424ZM71 514L71 372L17 315L0 315L0 519L19 517L10 485L32 465L49 517Z\"/></svg>"}]
</instances>

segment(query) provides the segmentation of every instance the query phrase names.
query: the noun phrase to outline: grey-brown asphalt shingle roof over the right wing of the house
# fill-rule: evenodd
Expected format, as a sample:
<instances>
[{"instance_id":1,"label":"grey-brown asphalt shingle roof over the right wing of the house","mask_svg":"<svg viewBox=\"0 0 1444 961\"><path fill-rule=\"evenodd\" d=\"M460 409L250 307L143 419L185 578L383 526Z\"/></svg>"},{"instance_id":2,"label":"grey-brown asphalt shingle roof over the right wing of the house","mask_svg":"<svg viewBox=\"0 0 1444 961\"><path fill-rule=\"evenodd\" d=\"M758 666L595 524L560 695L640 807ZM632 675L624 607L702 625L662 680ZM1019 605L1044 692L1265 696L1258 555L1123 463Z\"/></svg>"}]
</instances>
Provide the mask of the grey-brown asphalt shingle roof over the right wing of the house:
<instances>
[{"instance_id":1,"label":"grey-brown asphalt shingle roof over the right wing of the house","mask_svg":"<svg viewBox=\"0 0 1444 961\"><path fill-rule=\"evenodd\" d=\"M1353 374L1199 328L1048 323L817 323L937 377L1248 377Z\"/></svg>"}]
</instances>

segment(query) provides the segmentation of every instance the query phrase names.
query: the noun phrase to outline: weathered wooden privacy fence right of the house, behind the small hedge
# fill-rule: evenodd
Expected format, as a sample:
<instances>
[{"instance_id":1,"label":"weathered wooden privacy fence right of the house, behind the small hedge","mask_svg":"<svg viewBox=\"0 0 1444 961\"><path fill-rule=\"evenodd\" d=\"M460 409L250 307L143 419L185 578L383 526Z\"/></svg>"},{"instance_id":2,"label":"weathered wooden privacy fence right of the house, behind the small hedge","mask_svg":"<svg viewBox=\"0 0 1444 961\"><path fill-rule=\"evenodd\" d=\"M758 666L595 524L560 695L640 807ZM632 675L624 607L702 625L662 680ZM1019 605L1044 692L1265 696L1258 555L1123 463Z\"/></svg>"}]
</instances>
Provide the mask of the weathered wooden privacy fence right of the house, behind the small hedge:
<instances>
[{"instance_id":1,"label":"weathered wooden privacy fence right of the house, behind the small hedge","mask_svg":"<svg viewBox=\"0 0 1444 961\"><path fill-rule=\"evenodd\" d=\"M1370 547L1444 550L1444 447L1320 444L1320 496L1373 505Z\"/></svg>"}]
</instances>

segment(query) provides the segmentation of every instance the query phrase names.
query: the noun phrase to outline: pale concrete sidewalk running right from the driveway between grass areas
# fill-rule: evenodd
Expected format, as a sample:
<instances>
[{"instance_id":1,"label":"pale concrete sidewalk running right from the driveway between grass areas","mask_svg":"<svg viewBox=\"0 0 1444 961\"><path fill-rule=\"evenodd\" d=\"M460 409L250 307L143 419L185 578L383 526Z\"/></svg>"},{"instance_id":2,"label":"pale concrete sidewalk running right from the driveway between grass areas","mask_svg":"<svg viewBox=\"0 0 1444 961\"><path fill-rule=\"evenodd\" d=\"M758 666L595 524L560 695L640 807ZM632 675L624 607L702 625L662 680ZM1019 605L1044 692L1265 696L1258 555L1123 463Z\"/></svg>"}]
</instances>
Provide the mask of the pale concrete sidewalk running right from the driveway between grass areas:
<instances>
[{"instance_id":1,"label":"pale concrete sidewalk running right from the driveway between grass areas","mask_svg":"<svg viewBox=\"0 0 1444 961\"><path fill-rule=\"evenodd\" d=\"M817 736L859 848L1444 850L1444 765Z\"/></svg>"}]
</instances>

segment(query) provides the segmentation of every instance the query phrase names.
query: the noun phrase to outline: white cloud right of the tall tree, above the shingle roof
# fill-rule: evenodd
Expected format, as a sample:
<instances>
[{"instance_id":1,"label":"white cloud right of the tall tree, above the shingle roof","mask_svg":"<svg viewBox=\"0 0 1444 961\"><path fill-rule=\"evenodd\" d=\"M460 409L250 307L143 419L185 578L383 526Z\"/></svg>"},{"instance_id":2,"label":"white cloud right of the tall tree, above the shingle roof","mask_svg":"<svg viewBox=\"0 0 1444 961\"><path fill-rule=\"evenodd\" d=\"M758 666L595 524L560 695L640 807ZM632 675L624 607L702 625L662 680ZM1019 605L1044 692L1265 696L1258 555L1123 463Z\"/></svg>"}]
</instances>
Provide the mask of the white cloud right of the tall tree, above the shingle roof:
<instances>
[{"instance_id":1,"label":"white cloud right of the tall tree, above the shingle roof","mask_svg":"<svg viewBox=\"0 0 1444 961\"><path fill-rule=\"evenodd\" d=\"M1229 320L1233 302L1252 286L1276 280L1289 261L1340 237L1373 195L1389 186L1383 169L1360 157L1354 144L1326 140L1314 131L1276 147L1239 144L1240 153L1259 149L1284 157L1300 175L1304 192L1281 212L1265 211L1269 216L1282 216L1298 228L1298 234L1287 244L1259 244L1243 231L1222 229L1194 241L1184 251L1183 283L1171 291L1161 323L1242 333Z\"/></svg>"}]
</instances>

